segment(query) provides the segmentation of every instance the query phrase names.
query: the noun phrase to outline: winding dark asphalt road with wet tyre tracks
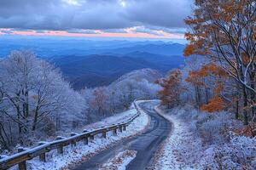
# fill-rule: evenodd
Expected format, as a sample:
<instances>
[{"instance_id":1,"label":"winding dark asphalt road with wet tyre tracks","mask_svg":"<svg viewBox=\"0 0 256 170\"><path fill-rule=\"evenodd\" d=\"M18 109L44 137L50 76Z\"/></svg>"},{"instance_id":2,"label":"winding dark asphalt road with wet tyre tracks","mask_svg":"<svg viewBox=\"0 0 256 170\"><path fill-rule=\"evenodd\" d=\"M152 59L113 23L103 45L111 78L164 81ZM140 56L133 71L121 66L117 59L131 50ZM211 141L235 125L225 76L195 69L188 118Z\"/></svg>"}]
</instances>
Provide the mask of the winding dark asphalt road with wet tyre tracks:
<instances>
[{"instance_id":1,"label":"winding dark asphalt road with wet tyre tracks","mask_svg":"<svg viewBox=\"0 0 256 170\"><path fill-rule=\"evenodd\" d=\"M113 145L107 150L102 150L102 152L96 154L96 156L93 156L77 167L74 167L73 170L98 169L104 162L124 150L137 150L137 155L127 165L127 170L143 170L148 167L149 162L154 156L155 151L158 150L160 143L166 139L172 129L172 124L170 122L155 113L153 110L155 105L158 105L158 102L148 101L140 104L143 111L146 111L151 118L150 125L144 133L131 139L120 141L118 144Z\"/></svg>"}]
</instances>

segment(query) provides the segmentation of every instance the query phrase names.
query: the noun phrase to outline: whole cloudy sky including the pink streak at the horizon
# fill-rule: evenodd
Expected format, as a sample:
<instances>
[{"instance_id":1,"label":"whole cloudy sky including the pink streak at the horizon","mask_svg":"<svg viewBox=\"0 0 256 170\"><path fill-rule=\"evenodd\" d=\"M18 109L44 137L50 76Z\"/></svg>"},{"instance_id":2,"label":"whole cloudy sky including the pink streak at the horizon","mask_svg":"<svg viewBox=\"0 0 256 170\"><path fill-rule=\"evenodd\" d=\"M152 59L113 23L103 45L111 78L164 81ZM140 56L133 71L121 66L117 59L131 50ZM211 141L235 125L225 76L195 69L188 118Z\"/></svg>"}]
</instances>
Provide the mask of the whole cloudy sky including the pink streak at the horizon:
<instances>
[{"instance_id":1,"label":"whole cloudy sky including the pink streak at the horizon","mask_svg":"<svg viewBox=\"0 0 256 170\"><path fill-rule=\"evenodd\" d=\"M0 34L183 38L192 0L0 0Z\"/></svg>"}]
</instances>

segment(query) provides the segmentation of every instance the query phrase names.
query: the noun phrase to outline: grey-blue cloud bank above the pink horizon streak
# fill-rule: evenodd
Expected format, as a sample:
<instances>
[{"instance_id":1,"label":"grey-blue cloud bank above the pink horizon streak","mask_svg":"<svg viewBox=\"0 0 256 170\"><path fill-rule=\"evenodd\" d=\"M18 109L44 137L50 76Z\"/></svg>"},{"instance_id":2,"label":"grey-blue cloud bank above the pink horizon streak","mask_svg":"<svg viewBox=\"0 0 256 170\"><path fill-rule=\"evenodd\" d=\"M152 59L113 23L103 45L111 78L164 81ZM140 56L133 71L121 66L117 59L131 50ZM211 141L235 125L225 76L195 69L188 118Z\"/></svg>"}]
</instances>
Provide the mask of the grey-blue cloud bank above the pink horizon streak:
<instances>
[{"instance_id":1,"label":"grey-blue cloud bank above the pink horizon streak","mask_svg":"<svg viewBox=\"0 0 256 170\"><path fill-rule=\"evenodd\" d=\"M183 28L191 0L0 0L0 28L105 30Z\"/></svg>"}]
</instances>

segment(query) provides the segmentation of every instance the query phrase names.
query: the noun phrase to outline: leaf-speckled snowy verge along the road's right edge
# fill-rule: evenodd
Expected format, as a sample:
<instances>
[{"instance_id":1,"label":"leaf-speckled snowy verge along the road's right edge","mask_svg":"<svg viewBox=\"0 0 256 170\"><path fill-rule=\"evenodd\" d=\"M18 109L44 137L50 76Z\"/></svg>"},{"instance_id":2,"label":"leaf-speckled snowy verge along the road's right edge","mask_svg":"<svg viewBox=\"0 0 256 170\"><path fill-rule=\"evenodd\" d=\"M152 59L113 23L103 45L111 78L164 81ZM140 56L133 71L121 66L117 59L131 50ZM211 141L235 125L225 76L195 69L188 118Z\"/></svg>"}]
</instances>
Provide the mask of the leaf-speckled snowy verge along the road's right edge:
<instances>
[{"instance_id":1,"label":"leaf-speckled snowy verge along the road's right edge","mask_svg":"<svg viewBox=\"0 0 256 170\"><path fill-rule=\"evenodd\" d=\"M189 127L175 115L166 115L155 108L160 115L172 122L172 133L162 144L155 156L155 169L201 169L196 162L201 157L201 140L195 139ZM183 111L183 110L181 110ZM200 159L199 159L200 160Z\"/></svg>"}]
</instances>

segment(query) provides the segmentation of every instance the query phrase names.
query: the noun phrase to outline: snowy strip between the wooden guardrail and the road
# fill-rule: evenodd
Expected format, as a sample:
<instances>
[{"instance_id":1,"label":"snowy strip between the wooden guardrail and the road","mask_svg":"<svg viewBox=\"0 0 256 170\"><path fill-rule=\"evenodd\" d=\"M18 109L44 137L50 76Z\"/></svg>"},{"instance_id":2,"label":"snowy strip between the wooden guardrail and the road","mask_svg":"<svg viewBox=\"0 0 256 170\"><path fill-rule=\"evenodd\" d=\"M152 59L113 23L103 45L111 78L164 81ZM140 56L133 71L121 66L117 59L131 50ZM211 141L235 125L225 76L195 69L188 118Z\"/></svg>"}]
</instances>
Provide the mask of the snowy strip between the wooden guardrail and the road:
<instances>
[{"instance_id":1,"label":"snowy strip between the wooden guardrail and the road","mask_svg":"<svg viewBox=\"0 0 256 170\"><path fill-rule=\"evenodd\" d=\"M136 114L136 112L136 109L131 109L130 111L126 111L125 114L134 115ZM113 124L113 117L108 118L108 120L111 120L110 124ZM122 121L124 121L124 119ZM101 127L103 122L104 121L98 124L95 123L95 125L91 127ZM79 142L76 146L69 145L67 147L64 147L63 155L58 155L56 150L52 150L46 154L46 162L39 161L38 158L34 158L32 159L32 161L26 161L27 169L68 169L68 166L79 161L83 161L89 156L94 155L97 151L108 148L109 145L114 144L115 142L118 142L121 139L125 139L142 132L144 128L147 127L148 122L148 115L145 112L141 111L141 115L138 116L137 119L135 119L133 122L131 122L131 124L126 128L126 131L123 131L123 133L118 132L118 135L114 136L112 132L109 132L107 134L107 139L102 138L101 135L97 135L94 140L90 140L88 145L84 144L82 141ZM13 169L15 168L17 167L14 167Z\"/></svg>"}]
</instances>

